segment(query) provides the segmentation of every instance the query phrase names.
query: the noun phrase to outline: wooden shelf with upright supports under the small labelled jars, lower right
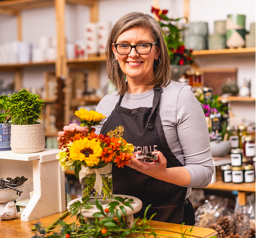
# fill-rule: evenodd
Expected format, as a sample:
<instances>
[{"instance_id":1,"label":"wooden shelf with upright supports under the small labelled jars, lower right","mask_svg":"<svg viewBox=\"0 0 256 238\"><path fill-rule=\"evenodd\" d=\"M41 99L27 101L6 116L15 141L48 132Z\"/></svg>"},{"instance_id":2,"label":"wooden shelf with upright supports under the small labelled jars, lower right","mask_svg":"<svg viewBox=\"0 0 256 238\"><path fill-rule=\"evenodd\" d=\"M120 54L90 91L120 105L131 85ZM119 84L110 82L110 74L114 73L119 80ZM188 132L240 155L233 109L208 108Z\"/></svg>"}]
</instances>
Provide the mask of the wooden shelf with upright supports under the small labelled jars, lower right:
<instances>
[{"instance_id":1,"label":"wooden shelf with upright supports under the small labelled jars, lower right","mask_svg":"<svg viewBox=\"0 0 256 238\"><path fill-rule=\"evenodd\" d=\"M223 182L222 175L219 168L216 170L216 182L210 183L207 187L203 189L208 190L225 190L225 191L238 191L239 203L245 205L246 195L249 193L255 193L255 182L251 183L233 183L233 182Z\"/></svg>"}]
</instances>

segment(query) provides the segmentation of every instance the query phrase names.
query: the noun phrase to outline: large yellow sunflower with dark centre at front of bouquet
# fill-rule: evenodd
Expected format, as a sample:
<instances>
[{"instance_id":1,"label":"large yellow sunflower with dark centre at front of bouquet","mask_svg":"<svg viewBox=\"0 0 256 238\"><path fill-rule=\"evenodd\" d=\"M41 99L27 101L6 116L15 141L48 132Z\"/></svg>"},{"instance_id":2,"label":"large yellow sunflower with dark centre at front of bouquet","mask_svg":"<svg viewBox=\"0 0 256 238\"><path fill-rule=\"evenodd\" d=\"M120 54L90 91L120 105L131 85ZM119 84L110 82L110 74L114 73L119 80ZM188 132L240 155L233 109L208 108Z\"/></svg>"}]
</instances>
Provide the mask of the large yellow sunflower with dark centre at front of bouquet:
<instances>
[{"instance_id":1,"label":"large yellow sunflower with dark centre at front of bouquet","mask_svg":"<svg viewBox=\"0 0 256 238\"><path fill-rule=\"evenodd\" d=\"M70 149L70 157L72 160L85 161L87 166L93 167L100 162L98 157L102 155L102 151L101 143L96 138L91 141L84 138L74 142Z\"/></svg>"}]
</instances>

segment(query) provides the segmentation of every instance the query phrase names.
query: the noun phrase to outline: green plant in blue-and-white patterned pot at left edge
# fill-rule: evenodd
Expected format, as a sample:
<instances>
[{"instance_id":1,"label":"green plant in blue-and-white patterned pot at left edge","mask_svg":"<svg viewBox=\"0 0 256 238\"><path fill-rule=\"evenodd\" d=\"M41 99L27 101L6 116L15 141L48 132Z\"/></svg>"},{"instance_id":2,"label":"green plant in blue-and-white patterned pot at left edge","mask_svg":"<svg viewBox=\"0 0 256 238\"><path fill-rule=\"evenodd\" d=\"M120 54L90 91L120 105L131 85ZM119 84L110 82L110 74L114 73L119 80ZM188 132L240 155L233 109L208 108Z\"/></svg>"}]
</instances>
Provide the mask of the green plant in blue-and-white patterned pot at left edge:
<instances>
[{"instance_id":1,"label":"green plant in blue-and-white patterned pot at left edge","mask_svg":"<svg viewBox=\"0 0 256 238\"><path fill-rule=\"evenodd\" d=\"M7 95L0 96L0 151L11 149L11 125L8 107L6 105Z\"/></svg>"}]
</instances>

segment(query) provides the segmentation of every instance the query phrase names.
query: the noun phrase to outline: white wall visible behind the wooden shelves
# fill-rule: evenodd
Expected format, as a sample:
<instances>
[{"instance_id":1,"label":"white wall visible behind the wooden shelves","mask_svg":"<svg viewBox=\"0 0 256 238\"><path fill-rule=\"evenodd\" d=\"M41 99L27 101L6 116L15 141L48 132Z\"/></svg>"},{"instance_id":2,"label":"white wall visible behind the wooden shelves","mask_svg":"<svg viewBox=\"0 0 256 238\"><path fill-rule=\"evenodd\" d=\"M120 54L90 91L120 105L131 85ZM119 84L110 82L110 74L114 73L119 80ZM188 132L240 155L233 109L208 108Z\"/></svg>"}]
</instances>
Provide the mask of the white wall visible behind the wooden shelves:
<instances>
[{"instance_id":1,"label":"white wall visible behind the wooden shelves","mask_svg":"<svg viewBox=\"0 0 256 238\"><path fill-rule=\"evenodd\" d=\"M109 21L113 24L123 15L132 11L141 11L151 15L153 0L104 0L99 2L99 21ZM169 10L169 18L184 16L182 0L159 0L161 9ZM209 33L214 31L214 21L225 20L230 14L246 15L246 30L249 24L255 22L255 0L190 0L190 21L208 22ZM66 39L67 42L83 38L86 22L90 21L89 8L82 5L67 4L66 6ZM37 45L40 36L53 37L56 34L55 11L53 7L31 9L22 12L23 40ZM16 40L16 19L12 16L0 15L0 43ZM252 96L255 97L255 57L205 57L196 59L199 67L219 68L237 67L237 82L241 86L244 78L252 79ZM24 69L24 86L41 86L43 71L52 71L52 66L26 67ZM12 80L14 74L0 73L0 78ZM100 80L102 89L107 83L105 63L101 65ZM249 115L255 121L255 103L245 108L237 105L237 114ZM236 103L232 103L236 107Z\"/></svg>"}]
</instances>

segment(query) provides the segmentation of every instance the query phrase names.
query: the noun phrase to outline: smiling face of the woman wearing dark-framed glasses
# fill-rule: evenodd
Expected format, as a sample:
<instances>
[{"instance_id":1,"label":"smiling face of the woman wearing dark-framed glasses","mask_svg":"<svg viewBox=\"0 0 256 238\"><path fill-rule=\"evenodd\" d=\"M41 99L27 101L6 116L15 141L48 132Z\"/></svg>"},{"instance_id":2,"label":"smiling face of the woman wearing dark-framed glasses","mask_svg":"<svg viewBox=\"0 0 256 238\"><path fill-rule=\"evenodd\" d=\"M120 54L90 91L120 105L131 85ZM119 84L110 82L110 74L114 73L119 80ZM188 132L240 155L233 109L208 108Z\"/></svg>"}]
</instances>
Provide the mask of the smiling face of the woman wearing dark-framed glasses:
<instances>
[{"instance_id":1,"label":"smiling face of the woman wearing dark-framed glasses","mask_svg":"<svg viewBox=\"0 0 256 238\"><path fill-rule=\"evenodd\" d=\"M140 43L154 43L150 30L142 27L133 27L124 31L117 38L116 44L137 45ZM126 74L127 80L136 83L150 82L154 77L153 63L160 55L160 49L153 45L151 52L147 55L139 55L135 48L128 55L120 55L112 45L112 50L118 60L121 70Z\"/></svg>"}]
</instances>

